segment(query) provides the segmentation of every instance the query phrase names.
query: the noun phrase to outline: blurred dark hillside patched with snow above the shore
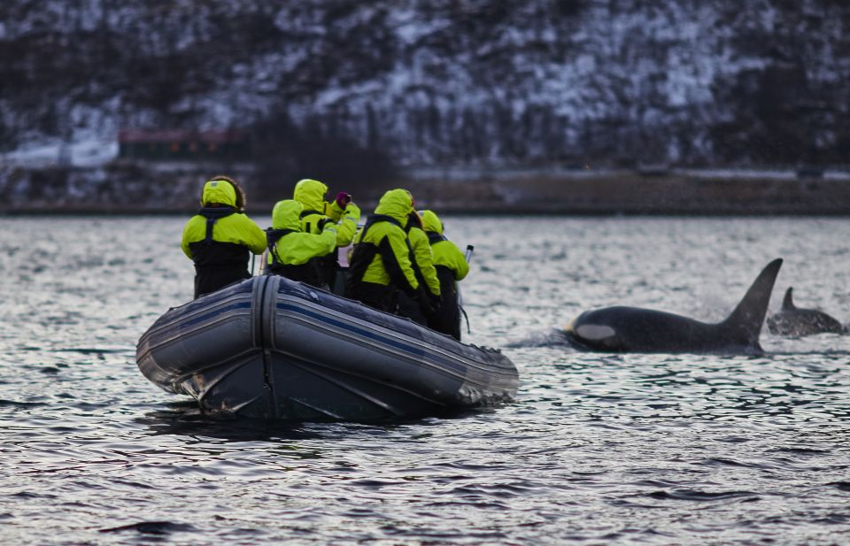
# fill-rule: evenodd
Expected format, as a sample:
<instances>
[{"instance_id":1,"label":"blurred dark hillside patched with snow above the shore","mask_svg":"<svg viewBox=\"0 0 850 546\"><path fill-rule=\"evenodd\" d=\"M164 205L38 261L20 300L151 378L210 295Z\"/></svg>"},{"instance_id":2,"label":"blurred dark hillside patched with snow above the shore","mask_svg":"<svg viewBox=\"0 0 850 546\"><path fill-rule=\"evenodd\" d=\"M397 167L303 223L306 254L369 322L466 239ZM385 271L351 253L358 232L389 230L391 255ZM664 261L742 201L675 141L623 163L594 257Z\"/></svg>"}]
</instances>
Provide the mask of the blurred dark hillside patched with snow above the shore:
<instances>
[{"instance_id":1,"label":"blurred dark hillside patched with snow above the shore","mask_svg":"<svg viewBox=\"0 0 850 546\"><path fill-rule=\"evenodd\" d=\"M278 172L835 165L850 4L6 0L0 81L6 151L242 127Z\"/></svg>"}]
</instances>

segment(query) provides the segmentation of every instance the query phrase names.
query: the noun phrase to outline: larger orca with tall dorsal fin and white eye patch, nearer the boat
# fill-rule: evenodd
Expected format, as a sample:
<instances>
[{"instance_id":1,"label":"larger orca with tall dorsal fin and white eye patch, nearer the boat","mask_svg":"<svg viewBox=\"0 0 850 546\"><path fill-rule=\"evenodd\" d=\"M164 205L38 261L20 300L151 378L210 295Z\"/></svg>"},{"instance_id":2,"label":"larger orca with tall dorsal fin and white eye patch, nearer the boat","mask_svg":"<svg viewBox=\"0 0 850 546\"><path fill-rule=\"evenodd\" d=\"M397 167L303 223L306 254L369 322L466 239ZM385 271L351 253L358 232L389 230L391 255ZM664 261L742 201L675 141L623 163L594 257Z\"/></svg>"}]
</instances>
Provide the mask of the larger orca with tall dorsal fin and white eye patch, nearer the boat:
<instances>
[{"instance_id":1,"label":"larger orca with tall dorsal fin and white eye patch, nearer the boat","mask_svg":"<svg viewBox=\"0 0 850 546\"><path fill-rule=\"evenodd\" d=\"M708 324L638 307L584 311L567 329L580 349L605 352L761 353L759 335L782 259L770 262L728 319Z\"/></svg>"}]
</instances>

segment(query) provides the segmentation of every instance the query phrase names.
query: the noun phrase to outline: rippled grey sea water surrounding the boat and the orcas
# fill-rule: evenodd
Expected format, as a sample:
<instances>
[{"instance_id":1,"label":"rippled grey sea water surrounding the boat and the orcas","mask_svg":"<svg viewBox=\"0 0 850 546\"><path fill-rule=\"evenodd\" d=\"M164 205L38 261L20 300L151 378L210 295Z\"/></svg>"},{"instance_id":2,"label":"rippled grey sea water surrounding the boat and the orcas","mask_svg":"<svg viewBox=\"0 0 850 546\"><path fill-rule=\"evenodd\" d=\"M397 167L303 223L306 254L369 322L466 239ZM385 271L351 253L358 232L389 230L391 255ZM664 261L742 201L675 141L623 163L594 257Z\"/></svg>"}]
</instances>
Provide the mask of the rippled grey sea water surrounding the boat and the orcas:
<instances>
[{"instance_id":1,"label":"rippled grey sea water surrounding the boat and the orcas","mask_svg":"<svg viewBox=\"0 0 850 546\"><path fill-rule=\"evenodd\" d=\"M850 541L850 337L608 355L559 331L612 304L723 319L773 258L774 311L793 286L846 323L846 219L446 218L476 249L467 340L519 394L371 424L213 418L138 372L192 295L184 221L0 219L0 543Z\"/></svg>"}]
</instances>

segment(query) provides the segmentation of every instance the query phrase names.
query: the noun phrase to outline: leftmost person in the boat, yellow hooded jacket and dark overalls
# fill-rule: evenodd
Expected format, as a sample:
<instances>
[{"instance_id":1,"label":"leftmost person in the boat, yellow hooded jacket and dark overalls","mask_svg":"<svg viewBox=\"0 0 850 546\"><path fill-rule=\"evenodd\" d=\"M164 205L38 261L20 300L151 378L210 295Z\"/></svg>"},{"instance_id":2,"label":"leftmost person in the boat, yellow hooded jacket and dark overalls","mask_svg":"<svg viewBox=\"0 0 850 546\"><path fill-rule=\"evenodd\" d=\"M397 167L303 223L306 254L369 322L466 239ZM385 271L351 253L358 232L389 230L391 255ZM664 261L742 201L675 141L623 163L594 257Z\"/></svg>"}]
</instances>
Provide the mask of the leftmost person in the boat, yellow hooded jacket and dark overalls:
<instances>
[{"instance_id":1,"label":"leftmost person in the boat, yellow hooded jacket and dark overalls","mask_svg":"<svg viewBox=\"0 0 850 546\"><path fill-rule=\"evenodd\" d=\"M251 278L251 252L266 250L266 234L244 215L245 195L227 176L204 184L201 208L183 227L181 248L195 262L195 298Z\"/></svg>"}]
</instances>

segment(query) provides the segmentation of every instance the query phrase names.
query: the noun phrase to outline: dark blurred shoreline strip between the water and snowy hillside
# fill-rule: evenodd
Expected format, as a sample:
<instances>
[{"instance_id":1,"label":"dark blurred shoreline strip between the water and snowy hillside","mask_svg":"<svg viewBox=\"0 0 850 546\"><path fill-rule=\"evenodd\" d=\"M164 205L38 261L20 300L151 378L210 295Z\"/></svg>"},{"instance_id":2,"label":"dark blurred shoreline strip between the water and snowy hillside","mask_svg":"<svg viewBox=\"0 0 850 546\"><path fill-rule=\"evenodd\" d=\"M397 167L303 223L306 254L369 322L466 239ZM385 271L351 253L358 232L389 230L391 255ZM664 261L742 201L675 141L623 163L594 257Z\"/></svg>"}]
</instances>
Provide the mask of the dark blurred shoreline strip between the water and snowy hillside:
<instances>
[{"instance_id":1,"label":"dark blurred shoreline strip between the water and snowy hillside","mask_svg":"<svg viewBox=\"0 0 850 546\"><path fill-rule=\"evenodd\" d=\"M158 181L169 179L168 174L157 174ZM73 200L61 188L55 188L52 199L39 196L12 200L0 204L0 215L188 215L197 211L196 178L202 179L203 173L181 173L179 183L174 185L179 190L166 197L165 205L151 204L150 199L136 199L134 204L110 203L110 196L116 188L120 190L122 183L114 181L111 192L89 199ZM445 172L403 173L380 188L360 188L354 194L364 214L374 210L384 188L407 188L413 193L417 208L455 215L850 215L850 173L844 171L494 170L462 178ZM255 216L271 214L273 205L269 199L249 199L247 212Z\"/></svg>"}]
</instances>

